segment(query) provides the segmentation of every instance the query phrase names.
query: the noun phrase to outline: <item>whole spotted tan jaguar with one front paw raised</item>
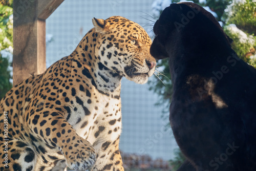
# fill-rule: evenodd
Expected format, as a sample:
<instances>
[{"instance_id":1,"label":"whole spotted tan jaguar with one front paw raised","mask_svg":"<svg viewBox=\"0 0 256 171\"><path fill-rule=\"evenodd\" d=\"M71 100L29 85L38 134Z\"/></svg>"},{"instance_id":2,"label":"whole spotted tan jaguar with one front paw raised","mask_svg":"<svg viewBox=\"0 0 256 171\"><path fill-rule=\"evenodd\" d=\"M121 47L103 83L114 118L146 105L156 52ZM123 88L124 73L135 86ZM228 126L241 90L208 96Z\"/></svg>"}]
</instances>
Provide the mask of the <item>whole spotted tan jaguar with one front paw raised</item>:
<instances>
[{"instance_id":1,"label":"whole spotted tan jaguar with one front paw raised","mask_svg":"<svg viewBox=\"0 0 256 171\"><path fill-rule=\"evenodd\" d=\"M123 170L121 78L145 83L153 75L152 41L120 16L93 18L93 24L71 55L1 100L0 170Z\"/></svg>"}]
</instances>

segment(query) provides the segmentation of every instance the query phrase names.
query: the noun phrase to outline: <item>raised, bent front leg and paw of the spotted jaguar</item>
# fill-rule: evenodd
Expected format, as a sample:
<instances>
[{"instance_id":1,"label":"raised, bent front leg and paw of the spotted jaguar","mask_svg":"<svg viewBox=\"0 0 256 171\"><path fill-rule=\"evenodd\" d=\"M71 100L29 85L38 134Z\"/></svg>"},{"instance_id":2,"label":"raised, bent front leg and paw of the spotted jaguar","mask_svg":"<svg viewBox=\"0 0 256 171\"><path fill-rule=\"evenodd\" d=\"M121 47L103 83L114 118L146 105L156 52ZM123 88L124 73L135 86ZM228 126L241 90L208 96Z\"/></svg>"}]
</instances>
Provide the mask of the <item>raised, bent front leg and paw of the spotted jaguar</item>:
<instances>
[{"instance_id":1,"label":"raised, bent front leg and paw of the spotted jaguar","mask_svg":"<svg viewBox=\"0 0 256 171\"><path fill-rule=\"evenodd\" d=\"M76 134L62 113L65 109L36 111L31 110L27 114L30 115L28 125L32 135L58 148L70 169L90 169L96 161L94 148L89 141Z\"/></svg>"}]
</instances>

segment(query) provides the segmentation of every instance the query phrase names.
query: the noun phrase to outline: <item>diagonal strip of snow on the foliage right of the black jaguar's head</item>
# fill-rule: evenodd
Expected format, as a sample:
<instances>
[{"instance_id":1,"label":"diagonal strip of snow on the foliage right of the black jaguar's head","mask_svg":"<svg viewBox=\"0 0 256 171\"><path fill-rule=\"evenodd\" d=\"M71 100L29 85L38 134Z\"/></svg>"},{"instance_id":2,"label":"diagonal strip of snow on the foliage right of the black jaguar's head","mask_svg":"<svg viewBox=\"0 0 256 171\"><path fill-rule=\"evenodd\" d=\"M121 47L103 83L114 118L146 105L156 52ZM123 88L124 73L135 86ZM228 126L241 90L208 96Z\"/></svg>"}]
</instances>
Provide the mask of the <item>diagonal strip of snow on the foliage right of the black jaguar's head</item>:
<instances>
[{"instance_id":1,"label":"diagonal strip of snow on the foliage right of the black jaguar's head","mask_svg":"<svg viewBox=\"0 0 256 171\"><path fill-rule=\"evenodd\" d=\"M240 30L239 28L237 28L236 25L234 24L230 24L227 26L227 29L233 33L238 35L239 41L241 42L241 44L254 44L255 40L253 39L252 35L247 36L247 34L245 34L242 30Z\"/></svg>"}]
</instances>

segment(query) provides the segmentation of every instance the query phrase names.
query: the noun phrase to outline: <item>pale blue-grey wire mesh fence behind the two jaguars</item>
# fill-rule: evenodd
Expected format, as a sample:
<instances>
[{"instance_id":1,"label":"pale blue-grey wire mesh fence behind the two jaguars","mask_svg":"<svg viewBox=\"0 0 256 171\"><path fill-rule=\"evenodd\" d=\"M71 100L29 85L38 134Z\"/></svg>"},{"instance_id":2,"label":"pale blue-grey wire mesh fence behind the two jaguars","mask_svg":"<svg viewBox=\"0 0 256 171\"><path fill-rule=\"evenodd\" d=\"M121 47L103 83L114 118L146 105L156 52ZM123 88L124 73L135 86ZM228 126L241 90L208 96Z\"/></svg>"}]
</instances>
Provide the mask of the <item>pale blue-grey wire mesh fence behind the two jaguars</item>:
<instances>
[{"instance_id":1,"label":"pale blue-grey wire mesh fence behind the two jaguars","mask_svg":"<svg viewBox=\"0 0 256 171\"><path fill-rule=\"evenodd\" d=\"M154 0L65 0L47 19L47 66L70 55L82 37L93 28L92 18L119 15L138 23L150 33L153 29ZM151 78L153 79L153 78ZM156 106L158 96L140 85L122 79L122 134L120 151L125 170L171 170L177 144L168 120L161 116L163 106ZM165 114L168 115L168 114Z\"/></svg>"}]
</instances>

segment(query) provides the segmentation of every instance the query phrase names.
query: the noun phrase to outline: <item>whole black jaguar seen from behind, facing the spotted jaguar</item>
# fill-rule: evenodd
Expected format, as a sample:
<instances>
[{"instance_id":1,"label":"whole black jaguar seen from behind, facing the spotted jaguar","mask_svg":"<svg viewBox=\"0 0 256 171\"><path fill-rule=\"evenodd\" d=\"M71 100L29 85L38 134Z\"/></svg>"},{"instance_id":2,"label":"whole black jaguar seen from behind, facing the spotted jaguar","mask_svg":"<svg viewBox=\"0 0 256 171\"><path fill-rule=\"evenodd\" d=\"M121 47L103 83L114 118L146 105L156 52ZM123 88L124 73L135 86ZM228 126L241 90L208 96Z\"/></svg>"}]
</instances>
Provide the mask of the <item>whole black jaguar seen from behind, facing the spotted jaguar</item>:
<instances>
[{"instance_id":1,"label":"whole black jaguar seen from behind, facing the spotted jaguar","mask_svg":"<svg viewBox=\"0 0 256 171\"><path fill-rule=\"evenodd\" d=\"M214 16L171 4L154 25L151 54L169 58L170 124L181 170L256 170L256 70L231 49Z\"/></svg>"}]
</instances>

